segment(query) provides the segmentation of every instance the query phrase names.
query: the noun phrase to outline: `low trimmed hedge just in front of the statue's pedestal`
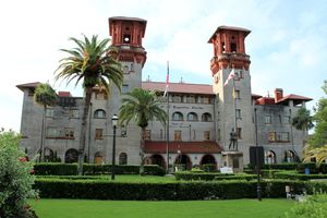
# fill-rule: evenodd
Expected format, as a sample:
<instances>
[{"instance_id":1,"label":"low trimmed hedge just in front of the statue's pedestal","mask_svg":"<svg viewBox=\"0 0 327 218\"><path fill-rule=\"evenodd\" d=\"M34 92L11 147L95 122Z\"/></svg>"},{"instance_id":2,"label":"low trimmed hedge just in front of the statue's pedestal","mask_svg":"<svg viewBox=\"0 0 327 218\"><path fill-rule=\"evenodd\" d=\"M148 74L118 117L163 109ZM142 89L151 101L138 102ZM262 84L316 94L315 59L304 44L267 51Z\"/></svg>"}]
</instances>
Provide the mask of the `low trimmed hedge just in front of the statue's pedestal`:
<instances>
[{"instance_id":1,"label":"low trimmed hedge just in front of the statue's pedestal","mask_svg":"<svg viewBox=\"0 0 327 218\"><path fill-rule=\"evenodd\" d=\"M245 174L245 173L238 173L238 174L225 174L219 172L194 172L194 171L181 171L175 172L174 177L177 180L184 180L184 181L194 181L194 180L204 180L204 181L211 181L211 180L253 180L256 179L254 174Z\"/></svg>"}]
</instances>

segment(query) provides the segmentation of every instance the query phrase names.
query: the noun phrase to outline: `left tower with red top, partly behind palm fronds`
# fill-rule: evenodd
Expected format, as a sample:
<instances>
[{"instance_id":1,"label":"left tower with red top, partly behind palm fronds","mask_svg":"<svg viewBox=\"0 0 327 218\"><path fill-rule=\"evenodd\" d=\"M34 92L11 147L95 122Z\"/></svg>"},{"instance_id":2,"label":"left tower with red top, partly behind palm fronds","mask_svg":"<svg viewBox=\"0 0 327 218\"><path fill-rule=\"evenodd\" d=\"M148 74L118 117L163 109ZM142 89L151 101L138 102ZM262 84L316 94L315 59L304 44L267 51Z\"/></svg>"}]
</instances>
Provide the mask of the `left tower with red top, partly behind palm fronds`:
<instances>
[{"instance_id":1,"label":"left tower with red top, partly behind palm fronds","mask_svg":"<svg viewBox=\"0 0 327 218\"><path fill-rule=\"evenodd\" d=\"M118 55L118 60L123 70L123 84L121 93L116 87L111 87L108 98L108 118L111 120L113 114L119 114L121 94L132 92L136 87L142 87L142 69L146 61L146 51L142 46L145 35L146 21L136 17L113 16L109 17L109 34L111 36L111 48ZM111 122L109 122L109 135L112 134ZM117 138L117 155L128 154L128 165L140 164L140 142L141 130L134 122L129 126L118 126L117 134L128 137ZM107 160L110 160L111 142L107 149Z\"/></svg>"}]
</instances>

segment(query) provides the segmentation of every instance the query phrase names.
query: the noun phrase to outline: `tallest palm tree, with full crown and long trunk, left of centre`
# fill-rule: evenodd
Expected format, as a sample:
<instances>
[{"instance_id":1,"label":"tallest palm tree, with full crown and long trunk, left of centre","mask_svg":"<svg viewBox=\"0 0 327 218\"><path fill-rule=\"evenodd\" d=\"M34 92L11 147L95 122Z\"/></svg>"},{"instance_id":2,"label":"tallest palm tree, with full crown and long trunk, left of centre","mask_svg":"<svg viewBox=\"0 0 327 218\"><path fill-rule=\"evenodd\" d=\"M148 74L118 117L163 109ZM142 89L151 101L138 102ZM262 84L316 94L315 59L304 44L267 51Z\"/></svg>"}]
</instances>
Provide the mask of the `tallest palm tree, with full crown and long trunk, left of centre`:
<instances>
[{"instance_id":1,"label":"tallest palm tree, with full crown and long trunk, left of centre","mask_svg":"<svg viewBox=\"0 0 327 218\"><path fill-rule=\"evenodd\" d=\"M86 122L92 98L92 92L95 86L109 92L109 86L113 83L120 90L123 81L121 64L110 53L107 47L109 39L98 40L93 36L89 40L84 36L83 40L70 38L77 45L77 48L71 50L61 49L69 56L60 60L57 69L56 80L66 80L68 84L76 78L75 85L81 81L85 92L84 110L81 125L81 141L78 146L78 174L83 174L84 150L86 143Z\"/></svg>"}]
</instances>

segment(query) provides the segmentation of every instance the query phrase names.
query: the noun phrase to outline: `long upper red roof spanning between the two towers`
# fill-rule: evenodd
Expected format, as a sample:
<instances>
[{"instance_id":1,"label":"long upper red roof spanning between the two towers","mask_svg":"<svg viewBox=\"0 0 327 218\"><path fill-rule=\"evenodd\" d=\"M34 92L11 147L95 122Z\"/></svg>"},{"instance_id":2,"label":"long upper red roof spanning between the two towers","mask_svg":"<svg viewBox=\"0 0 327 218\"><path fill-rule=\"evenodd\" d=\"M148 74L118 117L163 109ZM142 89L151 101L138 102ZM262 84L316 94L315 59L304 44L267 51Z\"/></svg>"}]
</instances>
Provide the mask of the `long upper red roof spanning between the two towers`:
<instances>
[{"instance_id":1,"label":"long upper red roof spanning between the two towers","mask_svg":"<svg viewBox=\"0 0 327 218\"><path fill-rule=\"evenodd\" d=\"M166 83L162 82L142 82L142 88L165 92ZM169 93L190 93L215 95L213 86L207 84L190 83L169 83Z\"/></svg>"}]
</instances>

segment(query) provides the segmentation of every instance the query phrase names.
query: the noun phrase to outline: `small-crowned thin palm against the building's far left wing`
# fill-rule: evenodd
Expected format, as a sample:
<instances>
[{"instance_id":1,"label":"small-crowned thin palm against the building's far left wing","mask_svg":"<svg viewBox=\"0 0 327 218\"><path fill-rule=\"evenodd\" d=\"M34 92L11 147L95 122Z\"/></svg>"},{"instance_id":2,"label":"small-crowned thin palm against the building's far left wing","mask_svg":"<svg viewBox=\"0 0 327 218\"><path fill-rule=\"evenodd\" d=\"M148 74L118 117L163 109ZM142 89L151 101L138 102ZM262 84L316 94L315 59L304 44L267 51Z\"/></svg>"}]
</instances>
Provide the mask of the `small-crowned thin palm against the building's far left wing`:
<instances>
[{"instance_id":1,"label":"small-crowned thin palm against the building's far left wing","mask_svg":"<svg viewBox=\"0 0 327 218\"><path fill-rule=\"evenodd\" d=\"M57 101L57 94L53 88L47 83L40 83L34 93L34 101L44 107L41 140L40 140L40 161L45 161L45 128L46 128L46 110L47 106L53 106Z\"/></svg>"}]
</instances>

